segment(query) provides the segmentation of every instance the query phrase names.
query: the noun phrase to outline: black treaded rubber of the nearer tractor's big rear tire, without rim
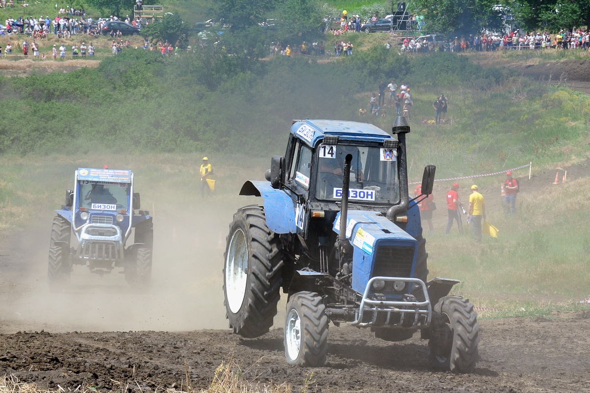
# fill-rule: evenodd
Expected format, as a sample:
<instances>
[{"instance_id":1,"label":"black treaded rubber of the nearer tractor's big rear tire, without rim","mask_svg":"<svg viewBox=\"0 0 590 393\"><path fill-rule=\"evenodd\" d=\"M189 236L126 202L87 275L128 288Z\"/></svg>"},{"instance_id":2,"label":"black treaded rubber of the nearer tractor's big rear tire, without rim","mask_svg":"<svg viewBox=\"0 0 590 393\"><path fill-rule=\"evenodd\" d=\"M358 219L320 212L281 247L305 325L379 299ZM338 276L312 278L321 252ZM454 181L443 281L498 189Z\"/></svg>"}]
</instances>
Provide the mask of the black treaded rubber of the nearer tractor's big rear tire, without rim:
<instances>
[{"instance_id":1,"label":"black treaded rubber of the nearer tractor's big rear tire, without rim","mask_svg":"<svg viewBox=\"0 0 590 393\"><path fill-rule=\"evenodd\" d=\"M274 316L277 314L283 255L278 235L266 225L263 207L246 206L234 214L227 245L230 243L230 236L234 229L240 225L249 244L248 283L244 295L245 301L237 314L231 313L227 299L224 300L226 317L230 320L234 333L245 338L256 338L270 330ZM224 260L227 260L227 252L226 247Z\"/></svg>"}]
</instances>

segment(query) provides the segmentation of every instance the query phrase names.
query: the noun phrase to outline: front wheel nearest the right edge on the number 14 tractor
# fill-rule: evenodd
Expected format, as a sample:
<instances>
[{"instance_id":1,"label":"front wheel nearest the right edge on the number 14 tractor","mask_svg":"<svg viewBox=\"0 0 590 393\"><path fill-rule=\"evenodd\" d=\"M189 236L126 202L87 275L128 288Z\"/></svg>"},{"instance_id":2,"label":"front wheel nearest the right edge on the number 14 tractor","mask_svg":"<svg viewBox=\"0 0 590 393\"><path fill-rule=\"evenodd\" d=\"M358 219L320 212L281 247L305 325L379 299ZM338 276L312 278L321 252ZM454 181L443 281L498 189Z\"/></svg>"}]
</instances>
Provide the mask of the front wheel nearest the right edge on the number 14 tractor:
<instances>
[{"instance_id":1,"label":"front wheel nearest the right edge on the number 14 tractor","mask_svg":"<svg viewBox=\"0 0 590 393\"><path fill-rule=\"evenodd\" d=\"M469 300L445 296L432 310L430 362L454 374L470 373L479 359L477 312Z\"/></svg>"}]
</instances>

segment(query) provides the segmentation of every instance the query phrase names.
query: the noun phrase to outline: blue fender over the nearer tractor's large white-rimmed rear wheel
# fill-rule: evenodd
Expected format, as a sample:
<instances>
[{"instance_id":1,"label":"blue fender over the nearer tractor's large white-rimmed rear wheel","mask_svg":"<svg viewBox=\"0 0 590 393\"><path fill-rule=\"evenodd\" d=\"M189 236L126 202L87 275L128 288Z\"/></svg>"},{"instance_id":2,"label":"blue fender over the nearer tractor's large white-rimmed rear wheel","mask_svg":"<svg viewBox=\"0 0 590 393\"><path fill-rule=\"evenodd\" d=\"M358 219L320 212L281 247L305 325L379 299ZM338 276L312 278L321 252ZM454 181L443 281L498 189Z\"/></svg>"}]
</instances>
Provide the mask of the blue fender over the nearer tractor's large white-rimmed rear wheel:
<instances>
[{"instance_id":1,"label":"blue fender over the nearer tractor's large white-rimmed rear wheel","mask_svg":"<svg viewBox=\"0 0 590 393\"><path fill-rule=\"evenodd\" d=\"M274 233L296 233L295 202L285 191L273 189L270 181L248 180L240 195L262 197L268 229Z\"/></svg>"}]
</instances>

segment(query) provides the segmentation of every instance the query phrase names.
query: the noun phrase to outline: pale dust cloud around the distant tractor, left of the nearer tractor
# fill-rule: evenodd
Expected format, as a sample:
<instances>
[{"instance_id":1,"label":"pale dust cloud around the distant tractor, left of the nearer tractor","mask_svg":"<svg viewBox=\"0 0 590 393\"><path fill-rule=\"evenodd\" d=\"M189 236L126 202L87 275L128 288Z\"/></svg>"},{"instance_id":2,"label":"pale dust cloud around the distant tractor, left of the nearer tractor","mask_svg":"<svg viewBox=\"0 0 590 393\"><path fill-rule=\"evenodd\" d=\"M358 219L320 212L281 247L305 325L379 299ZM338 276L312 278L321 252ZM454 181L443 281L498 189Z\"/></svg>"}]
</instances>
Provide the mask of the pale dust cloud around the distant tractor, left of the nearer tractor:
<instances>
[{"instance_id":1,"label":"pale dust cloud around the distant tractor, left of the nearer tractor","mask_svg":"<svg viewBox=\"0 0 590 393\"><path fill-rule=\"evenodd\" d=\"M235 203L243 206L247 199L237 197ZM97 275L82 265L74 266L63 293L51 293L51 217L40 220L37 228L2 239L0 332L228 328L223 253L236 208L227 204L211 197L197 200L196 209L169 207L155 213L152 285L141 293L127 285L122 268Z\"/></svg>"}]
</instances>

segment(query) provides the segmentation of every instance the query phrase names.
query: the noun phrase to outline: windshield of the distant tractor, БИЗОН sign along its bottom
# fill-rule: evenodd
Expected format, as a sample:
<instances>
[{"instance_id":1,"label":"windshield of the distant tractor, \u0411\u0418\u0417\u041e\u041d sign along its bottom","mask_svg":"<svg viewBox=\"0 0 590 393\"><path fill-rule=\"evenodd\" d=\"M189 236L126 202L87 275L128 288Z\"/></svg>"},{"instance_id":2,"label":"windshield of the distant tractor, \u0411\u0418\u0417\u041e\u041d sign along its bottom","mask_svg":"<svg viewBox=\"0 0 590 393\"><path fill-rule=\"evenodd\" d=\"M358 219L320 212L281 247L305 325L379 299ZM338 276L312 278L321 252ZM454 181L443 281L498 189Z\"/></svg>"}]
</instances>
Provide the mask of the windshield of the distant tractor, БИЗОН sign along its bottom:
<instances>
[{"instance_id":1,"label":"windshield of the distant tractor, \u0411\u0418\u0417\u041e\u041d sign along its bottom","mask_svg":"<svg viewBox=\"0 0 590 393\"><path fill-rule=\"evenodd\" d=\"M129 183L81 181L78 207L97 210L129 210Z\"/></svg>"}]
</instances>

